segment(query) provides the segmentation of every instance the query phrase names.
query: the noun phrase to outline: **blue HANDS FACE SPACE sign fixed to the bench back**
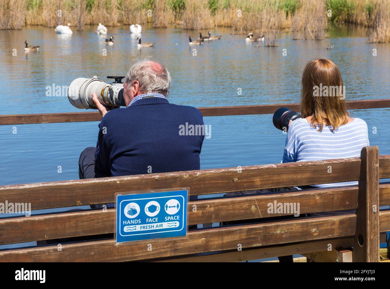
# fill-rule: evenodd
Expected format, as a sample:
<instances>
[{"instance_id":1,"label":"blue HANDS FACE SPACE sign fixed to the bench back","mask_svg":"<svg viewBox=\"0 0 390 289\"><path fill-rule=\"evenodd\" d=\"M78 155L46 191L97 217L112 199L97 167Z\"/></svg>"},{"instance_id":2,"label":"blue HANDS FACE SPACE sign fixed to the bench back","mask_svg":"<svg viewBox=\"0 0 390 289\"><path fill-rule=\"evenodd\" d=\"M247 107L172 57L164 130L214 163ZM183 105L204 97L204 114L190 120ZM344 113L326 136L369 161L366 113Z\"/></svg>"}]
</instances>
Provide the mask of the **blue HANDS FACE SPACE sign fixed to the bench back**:
<instances>
[{"instance_id":1,"label":"blue HANDS FACE SPACE sign fixed to the bench back","mask_svg":"<svg viewBox=\"0 0 390 289\"><path fill-rule=\"evenodd\" d=\"M187 234L188 190L116 196L117 243Z\"/></svg>"}]
</instances>

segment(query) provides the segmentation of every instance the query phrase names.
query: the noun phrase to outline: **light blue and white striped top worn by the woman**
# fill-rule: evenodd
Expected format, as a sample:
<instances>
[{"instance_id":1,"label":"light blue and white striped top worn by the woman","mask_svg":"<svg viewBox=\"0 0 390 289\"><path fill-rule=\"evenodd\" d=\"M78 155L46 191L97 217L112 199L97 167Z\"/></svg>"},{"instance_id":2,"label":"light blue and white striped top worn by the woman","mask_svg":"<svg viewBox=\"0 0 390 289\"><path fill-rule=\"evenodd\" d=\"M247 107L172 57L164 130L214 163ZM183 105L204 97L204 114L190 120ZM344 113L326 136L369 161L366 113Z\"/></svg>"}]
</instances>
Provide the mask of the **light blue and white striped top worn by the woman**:
<instances>
[{"instance_id":1,"label":"light blue and white striped top worn by the woman","mask_svg":"<svg viewBox=\"0 0 390 289\"><path fill-rule=\"evenodd\" d=\"M321 132L306 119L291 122L287 131L282 163L294 161L318 161L360 157L363 147L370 145L365 121L354 118L352 122L331 131L332 126L323 126ZM313 185L319 188L351 186L358 182Z\"/></svg>"}]
</instances>

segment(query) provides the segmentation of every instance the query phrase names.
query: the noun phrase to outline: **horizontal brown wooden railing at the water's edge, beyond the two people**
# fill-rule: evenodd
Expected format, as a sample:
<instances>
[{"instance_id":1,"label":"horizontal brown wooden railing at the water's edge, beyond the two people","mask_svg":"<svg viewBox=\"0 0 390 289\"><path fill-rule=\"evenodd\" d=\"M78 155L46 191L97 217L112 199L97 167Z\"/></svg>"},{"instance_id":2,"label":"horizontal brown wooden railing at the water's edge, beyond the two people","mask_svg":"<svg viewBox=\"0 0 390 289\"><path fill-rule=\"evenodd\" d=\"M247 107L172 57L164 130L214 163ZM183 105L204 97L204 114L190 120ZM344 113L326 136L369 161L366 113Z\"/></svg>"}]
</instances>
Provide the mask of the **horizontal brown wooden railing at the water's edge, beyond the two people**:
<instances>
[{"instance_id":1,"label":"horizontal brown wooden railing at the water's edge, beyond the two people","mask_svg":"<svg viewBox=\"0 0 390 289\"><path fill-rule=\"evenodd\" d=\"M387 108L390 99L367 99L347 101L349 109ZM274 113L280 107L288 107L299 111L299 103L282 103L276 105L242 105L242 106L215 106L200 107L203 116L220 115L248 115ZM58 122L100 121L99 112L66 112L66 113L36 113L21 115L0 115L0 125L7 124L34 124Z\"/></svg>"}]
</instances>

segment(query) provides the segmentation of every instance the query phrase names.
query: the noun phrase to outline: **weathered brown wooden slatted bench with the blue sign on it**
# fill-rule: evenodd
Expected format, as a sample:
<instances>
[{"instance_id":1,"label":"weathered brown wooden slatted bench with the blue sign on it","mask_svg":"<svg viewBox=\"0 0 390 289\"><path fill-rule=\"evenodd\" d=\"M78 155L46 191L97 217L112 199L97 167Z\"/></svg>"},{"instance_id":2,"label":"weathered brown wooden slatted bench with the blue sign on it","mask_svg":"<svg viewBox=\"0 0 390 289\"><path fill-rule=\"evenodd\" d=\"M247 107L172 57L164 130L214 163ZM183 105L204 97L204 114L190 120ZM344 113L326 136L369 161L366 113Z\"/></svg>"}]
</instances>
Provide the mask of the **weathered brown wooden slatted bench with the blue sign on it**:
<instances>
[{"instance_id":1,"label":"weathered brown wooden slatted bench with the blue sign on it","mask_svg":"<svg viewBox=\"0 0 390 289\"><path fill-rule=\"evenodd\" d=\"M378 147L364 147L360 158L1 186L0 202L28 202L32 209L48 209L113 202L114 193L126 191L190 187L190 195L206 195L359 181L359 186L344 188L190 201L188 225L243 222L190 230L187 239L118 246L108 238L34 246L2 250L0 261L230 262L328 252L331 246L330 254L338 255L342 249L353 247L354 262L378 262L379 234L390 230L390 210L379 211L379 206L390 205L390 184L379 184L384 178L390 178L390 156L379 156ZM268 204L275 200L299 203L301 215L348 209L356 209L356 213L245 223L291 215L268 213ZM109 234L114 232L114 224L114 209L0 219L0 244ZM148 250L148 244L152 250Z\"/></svg>"}]
</instances>

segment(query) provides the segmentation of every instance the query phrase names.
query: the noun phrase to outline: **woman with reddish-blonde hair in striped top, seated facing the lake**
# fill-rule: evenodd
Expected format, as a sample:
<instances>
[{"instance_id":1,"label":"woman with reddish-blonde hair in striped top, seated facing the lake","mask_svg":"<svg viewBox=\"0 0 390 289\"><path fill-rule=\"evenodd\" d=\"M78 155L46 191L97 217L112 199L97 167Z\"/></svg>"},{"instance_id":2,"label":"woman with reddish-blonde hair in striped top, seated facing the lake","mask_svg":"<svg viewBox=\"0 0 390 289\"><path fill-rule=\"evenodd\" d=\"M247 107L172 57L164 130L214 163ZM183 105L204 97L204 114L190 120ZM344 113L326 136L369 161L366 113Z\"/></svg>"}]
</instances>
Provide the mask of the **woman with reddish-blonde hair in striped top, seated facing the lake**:
<instances>
[{"instance_id":1,"label":"woman with reddish-blonde hair in striped top, seated facing the lake","mask_svg":"<svg viewBox=\"0 0 390 289\"><path fill-rule=\"evenodd\" d=\"M315 59L302 75L301 118L290 121L283 163L360 157L369 145L365 121L346 110L339 68L328 59ZM358 182L317 184L314 187L355 185Z\"/></svg>"}]
</instances>

